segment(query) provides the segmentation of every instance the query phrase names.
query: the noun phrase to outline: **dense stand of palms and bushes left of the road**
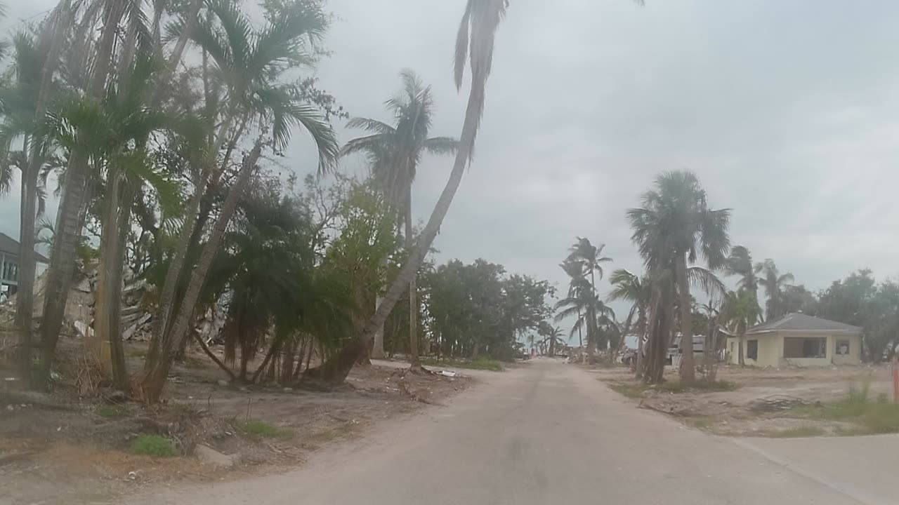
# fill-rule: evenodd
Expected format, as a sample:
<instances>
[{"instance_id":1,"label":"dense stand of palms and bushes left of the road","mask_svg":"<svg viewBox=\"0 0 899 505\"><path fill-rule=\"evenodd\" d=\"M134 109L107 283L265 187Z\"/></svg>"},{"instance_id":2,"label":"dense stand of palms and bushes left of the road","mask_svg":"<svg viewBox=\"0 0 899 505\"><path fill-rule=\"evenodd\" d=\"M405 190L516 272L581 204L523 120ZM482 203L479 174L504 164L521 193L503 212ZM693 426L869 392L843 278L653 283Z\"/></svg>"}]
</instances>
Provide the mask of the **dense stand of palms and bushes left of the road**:
<instances>
[{"instance_id":1,"label":"dense stand of palms and bushes left of the road","mask_svg":"<svg viewBox=\"0 0 899 505\"><path fill-rule=\"evenodd\" d=\"M416 277L471 162L508 3L462 5L453 75L459 90L466 68L471 79L458 140L429 135L430 89L404 71L401 92L386 102L391 121L350 120L365 136L345 146L334 122L349 114L309 76L328 56L333 14L323 0L260 6L262 19L254 19L236 0L60 0L13 36L0 89L0 188L12 190L19 174L15 331L31 387L49 387L68 294L89 261L99 265L93 329L110 342L112 381L147 403L159 401L174 360L196 340L198 317L215 301L227 306L220 365L236 378L342 382L391 327L406 293L408 350L417 363ZM304 189L284 188L277 174L296 132L312 140L318 158ZM352 153L367 155L370 180L323 185ZM455 159L414 235L409 202L424 154ZM49 188L54 180L58 187ZM57 218L38 226L47 190L58 194ZM35 324L39 227L50 263ZM121 340L128 274L150 288L152 336L141 370L127 368ZM496 275L503 297L519 280L532 281ZM515 306L498 303L503 311ZM520 327L503 314L496 328L507 339ZM451 352L483 346L499 354L512 345L436 331ZM262 365L251 372L259 350Z\"/></svg>"}]
</instances>

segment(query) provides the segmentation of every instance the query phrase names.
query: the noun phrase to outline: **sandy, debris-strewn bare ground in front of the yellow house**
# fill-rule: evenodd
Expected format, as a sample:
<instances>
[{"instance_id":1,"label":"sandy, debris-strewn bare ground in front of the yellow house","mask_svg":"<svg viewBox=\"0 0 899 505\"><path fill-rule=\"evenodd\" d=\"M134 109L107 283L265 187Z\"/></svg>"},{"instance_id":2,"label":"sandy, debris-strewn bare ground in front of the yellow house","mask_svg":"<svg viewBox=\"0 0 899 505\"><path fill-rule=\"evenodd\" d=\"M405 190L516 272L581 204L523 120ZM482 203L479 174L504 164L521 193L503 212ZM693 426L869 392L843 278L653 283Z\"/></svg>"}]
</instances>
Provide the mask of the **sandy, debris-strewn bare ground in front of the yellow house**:
<instances>
[{"instance_id":1,"label":"sandy, debris-strewn bare ground in front of the yellow house","mask_svg":"<svg viewBox=\"0 0 899 505\"><path fill-rule=\"evenodd\" d=\"M610 384L636 384L628 368L598 368L598 378ZM666 379L676 381L676 371L666 370ZM826 434L850 429L840 421L808 421L791 418L788 412L763 412L760 403L768 400L797 400L804 403L832 403L847 397L851 386L866 386L872 399L892 397L891 368L844 366L827 368L752 368L718 369L718 380L738 385L734 391L663 393L647 391L639 404L671 413L692 425L719 435L763 436L781 430L814 425Z\"/></svg>"}]
</instances>

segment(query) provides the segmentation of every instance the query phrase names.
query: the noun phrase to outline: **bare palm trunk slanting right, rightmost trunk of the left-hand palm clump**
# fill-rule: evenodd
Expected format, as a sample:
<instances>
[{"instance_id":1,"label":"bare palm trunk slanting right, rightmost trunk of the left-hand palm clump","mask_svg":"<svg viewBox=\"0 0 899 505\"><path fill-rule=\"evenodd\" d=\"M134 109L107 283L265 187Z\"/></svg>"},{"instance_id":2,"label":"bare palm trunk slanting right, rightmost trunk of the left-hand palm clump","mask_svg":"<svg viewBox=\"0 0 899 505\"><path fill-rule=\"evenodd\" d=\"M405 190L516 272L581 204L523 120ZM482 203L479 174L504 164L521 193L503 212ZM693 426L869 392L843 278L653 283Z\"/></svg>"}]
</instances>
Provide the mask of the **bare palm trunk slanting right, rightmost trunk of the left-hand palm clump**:
<instances>
[{"instance_id":1,"label":"bare palm trunk slanting right, rightmost trunk of the left-hand palm clump","mask_svg":"<svg viewBox=\"0 0 899 505\"><path fill-rule=\"evenodd\" d=\"M188 327L193 320L193 311L200 297L200 289L203 288L203 283L206 281L206 274L209 272L212 260L218 252L222 235L225 235L227 225L234 215L237 202L244 195L244 191L250 183L250 176L254 172L256 162L259 161L259 156L262 155L262 148L262 138L257 139L253 150L244 158L240 173L237 174L237 180L231 186L231 189L228 190L218 220L212 228L212 234L209 235L209 241L203 246L200 260L197 261L197 266L191 273L191 281L172 324L172 329L170 332L167 332L165 339L163 339L165 347L159 350L160 354L154 363L147 362L149 369L141 380L141 388L144 400L148 403L159 401L159 397L165 387L165 378L168 377L169 369L172 368L174 358L178 350L181 349L182 341L186 338Z\"/></svg>"}]
</instances>

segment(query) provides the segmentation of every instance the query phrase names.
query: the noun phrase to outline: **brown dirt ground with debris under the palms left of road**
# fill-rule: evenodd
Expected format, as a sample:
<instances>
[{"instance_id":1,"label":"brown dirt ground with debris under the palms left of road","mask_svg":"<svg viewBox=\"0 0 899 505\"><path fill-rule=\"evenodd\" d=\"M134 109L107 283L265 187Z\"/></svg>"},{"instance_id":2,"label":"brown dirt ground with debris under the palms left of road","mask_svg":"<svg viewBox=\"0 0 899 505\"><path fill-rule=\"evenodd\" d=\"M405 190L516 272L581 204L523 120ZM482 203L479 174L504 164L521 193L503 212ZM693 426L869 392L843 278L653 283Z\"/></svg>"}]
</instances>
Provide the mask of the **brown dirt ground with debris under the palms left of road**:
<instances>
[{"instance_id":1,"label":"brown dirt ground with debris under the palms left of road","mask_svg":"<svg viewBox=\"0 0 899 505\"><path fill-rule=\"evenodd\" d=\"M138 369L141 351L129 348L131 369ZM0 399L0 504L114 503L147 483L278 472L378 421L439 404L474 381L464 372L442 377L404 370L402 363L356 367L346 385L328 392L238 387L219 382L221 371L191 353L170 377L167 402L153 409L73 401L75 384L59 385L58 409ZM74 382L61 382L67 379ZM182 456L132 454L147 433L171 440ZM192 456L200 445L233 465L201 463Z\"/></svg>"}]
</instances>

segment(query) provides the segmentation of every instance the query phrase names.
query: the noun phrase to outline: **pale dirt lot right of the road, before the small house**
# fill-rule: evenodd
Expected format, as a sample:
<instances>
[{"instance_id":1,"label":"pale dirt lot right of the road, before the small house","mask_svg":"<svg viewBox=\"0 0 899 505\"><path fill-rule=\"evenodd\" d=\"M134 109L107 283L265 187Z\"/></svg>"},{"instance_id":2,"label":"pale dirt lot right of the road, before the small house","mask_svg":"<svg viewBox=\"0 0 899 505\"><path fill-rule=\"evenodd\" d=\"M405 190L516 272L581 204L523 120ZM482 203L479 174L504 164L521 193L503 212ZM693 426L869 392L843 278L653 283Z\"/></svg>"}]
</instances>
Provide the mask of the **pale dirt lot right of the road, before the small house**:
<instances>
[{"instance_id":1,"label":"pale dirt lot right of the road, before the small house","mask_svg":"<svg viewBox=\"0 0 899 505\"><path fill-rule=\"evenodd\" d=\"M872 403L892 398L890 368L852 366L828 368L740 368L723 366L717 379L730 391L677 389L677 375L666 370L666 385L642 388L627 368L603 368L600 380L634 398L641 408L670 414L719 435L801 437L859 434L850 421L812 415L811 410L845 402L850 387L868 389ZM897 427L899 428L899 427Z\"/></svg>"}]
</instances>

